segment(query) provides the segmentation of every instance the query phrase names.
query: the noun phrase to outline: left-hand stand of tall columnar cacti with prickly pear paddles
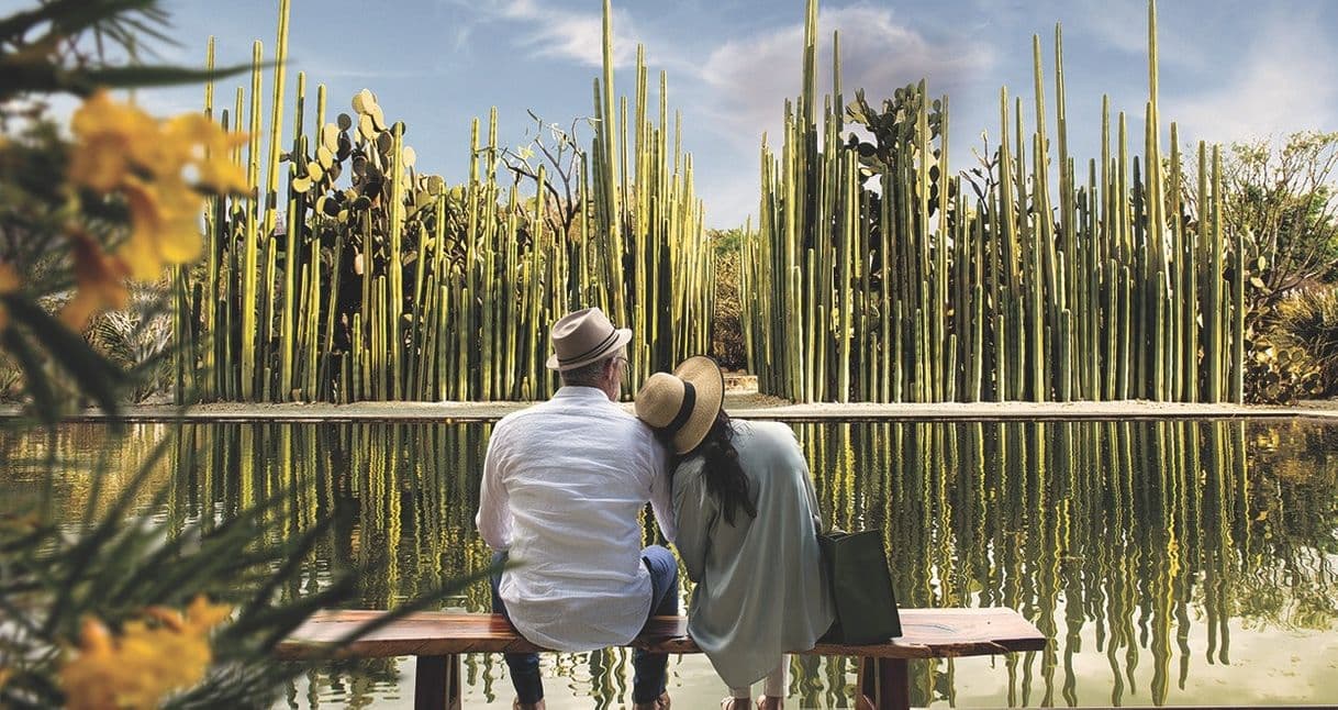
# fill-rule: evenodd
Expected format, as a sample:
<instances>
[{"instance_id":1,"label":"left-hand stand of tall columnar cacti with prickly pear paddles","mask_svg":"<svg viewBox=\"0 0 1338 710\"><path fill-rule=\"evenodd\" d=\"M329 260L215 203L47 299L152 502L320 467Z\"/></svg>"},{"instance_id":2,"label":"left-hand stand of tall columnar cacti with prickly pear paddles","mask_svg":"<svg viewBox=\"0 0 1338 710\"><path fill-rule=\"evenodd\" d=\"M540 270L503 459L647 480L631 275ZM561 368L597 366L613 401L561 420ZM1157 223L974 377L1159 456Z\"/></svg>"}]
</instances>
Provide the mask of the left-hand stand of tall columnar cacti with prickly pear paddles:
<instances>
[{"instance_id":1,"label":"left-hand stand of tall columnar cacti with prickly pear paddles","mask_svg":"<svg viewBox=\"0 0 1338 710\"><path fill-rule=\"evenodd\" d=\"M557 387L543 366L549 324L585 305L636 331L637 376L709 348L713 265L692 158L677 114L669 126L664 74L652 111L641 48L634 119L626 98L613 113L611 15L595 137L574 194L558 198L543 167L500 177L495 110L486 135L474 125L470 177L459 186L415 169L407 127L387 121L368 90L351 113L326 121L320 86L312 125L298 75L293 133L284 138L288 13L289 0L280 0L268 155L256 43L252 190L210 205L202 283L178 276L175 332L186 344L178 394L186 395L185 374L201 370L190 383L202 399L542 398ZM235 127L246 96L238 90L225 125ZM578 218L555 229L555 210Z\"/></svg>"}]
</instances>

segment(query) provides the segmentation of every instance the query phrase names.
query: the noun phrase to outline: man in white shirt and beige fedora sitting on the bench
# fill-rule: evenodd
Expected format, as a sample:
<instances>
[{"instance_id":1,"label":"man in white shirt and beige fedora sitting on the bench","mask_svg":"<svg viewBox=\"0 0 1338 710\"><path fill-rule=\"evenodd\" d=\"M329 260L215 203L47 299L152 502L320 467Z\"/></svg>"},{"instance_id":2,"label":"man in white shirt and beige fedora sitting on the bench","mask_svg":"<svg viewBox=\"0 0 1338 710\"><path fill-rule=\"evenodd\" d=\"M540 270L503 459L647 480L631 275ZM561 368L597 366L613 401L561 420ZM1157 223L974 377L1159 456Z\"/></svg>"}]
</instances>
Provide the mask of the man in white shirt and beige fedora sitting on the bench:
<instances>
[{"instance_id":1,"label":"man in white shirt and beige fedora sitting on the bench","mask_svg":"<svg viewBox=\"0 0 1338 710\"><path fill-rule=\"evenodd\" d=\"M650 502L673 540L668 453L653 431L615 402L632 331L598 308L553 324L547 366L562 387L553 399L502 418L492 429L475 522L508 560L492 580L492 608L527 640L558 651L630 642L646 619L678 614L678 564L641 549L638 516ZM637 650L637 709L669 707L668 656ZM518 710L543 709L538 654L507 654Z\"/></svg>"}]
</instances>

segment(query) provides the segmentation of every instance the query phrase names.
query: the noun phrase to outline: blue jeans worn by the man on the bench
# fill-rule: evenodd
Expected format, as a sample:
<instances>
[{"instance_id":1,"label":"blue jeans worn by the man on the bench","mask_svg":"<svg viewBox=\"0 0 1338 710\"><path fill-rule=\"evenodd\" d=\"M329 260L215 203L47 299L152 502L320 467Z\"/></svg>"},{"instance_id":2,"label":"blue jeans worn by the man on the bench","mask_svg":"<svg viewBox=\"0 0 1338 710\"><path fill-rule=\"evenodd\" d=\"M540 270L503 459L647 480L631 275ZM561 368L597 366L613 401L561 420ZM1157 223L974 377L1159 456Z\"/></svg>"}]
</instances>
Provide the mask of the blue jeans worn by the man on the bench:
<instances>
[{"instance_id":1,"label":"blue jeans worn by the man on the bench","mask_svg":"<svg viewBox=\"0 0 1338 710\"><path fill-rule=\"evenodd\" d=\"M492 555L492 564L506 561L506 552ZM650 571L650 615L676 616L678 614L678 563L673 553L660 545L650 545L641 551L641 564ZM506 616L506 604L498 593L502 584L502 572L492 573L492 611ZM511 620L507 616L507 620ZM511 685L515 694L523 703L534 703L543 699L543 679L539 677L539 654L503 654L506 664L511 670ZM632 667L636 675L632 679L632 702L650 702L665 691L665 671L669 666L669 656L665 654L648 654L636 648L632 654Z\"/></svg>"}]
</instances>

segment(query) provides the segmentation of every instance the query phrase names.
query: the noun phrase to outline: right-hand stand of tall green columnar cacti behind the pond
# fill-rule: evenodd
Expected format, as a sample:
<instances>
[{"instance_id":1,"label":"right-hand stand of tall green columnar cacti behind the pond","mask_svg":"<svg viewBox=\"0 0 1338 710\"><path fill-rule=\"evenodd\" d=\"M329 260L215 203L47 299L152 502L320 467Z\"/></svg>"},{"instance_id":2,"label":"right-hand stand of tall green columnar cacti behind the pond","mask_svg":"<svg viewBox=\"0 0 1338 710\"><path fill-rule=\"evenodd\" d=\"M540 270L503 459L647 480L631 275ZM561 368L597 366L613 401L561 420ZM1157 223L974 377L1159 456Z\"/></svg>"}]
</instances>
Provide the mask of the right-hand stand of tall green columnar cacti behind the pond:
<instances>
[{"instance_id":1,"label":"right-hand stand of tall green columnar cacti behind the pond","mask_svg":"<svg viewBox=\"0 0 1338 710\"><path fill-rule=\"evenodd\" d=\"M1141 158L1124 114L1112 121L1104 100L1101 154L1078 169L1056 28L1053 106L1034 38L1034 110L1001 90L997 147L962 174L947 161L947 98L923 82L882 110L862 91L844 104L839 38L819 122L816 8L809 0L803 91L785 103L780 154L763 139L759 230L744 244L743 320L764 391L835 402L1240 399L1240 245L1224 241L1208 149L1196 200L1183 200L1191 181L1173 123L1164 161L1155 3ZM871 137L842 138L847 119Z\"/></svg>"}]
</instances>

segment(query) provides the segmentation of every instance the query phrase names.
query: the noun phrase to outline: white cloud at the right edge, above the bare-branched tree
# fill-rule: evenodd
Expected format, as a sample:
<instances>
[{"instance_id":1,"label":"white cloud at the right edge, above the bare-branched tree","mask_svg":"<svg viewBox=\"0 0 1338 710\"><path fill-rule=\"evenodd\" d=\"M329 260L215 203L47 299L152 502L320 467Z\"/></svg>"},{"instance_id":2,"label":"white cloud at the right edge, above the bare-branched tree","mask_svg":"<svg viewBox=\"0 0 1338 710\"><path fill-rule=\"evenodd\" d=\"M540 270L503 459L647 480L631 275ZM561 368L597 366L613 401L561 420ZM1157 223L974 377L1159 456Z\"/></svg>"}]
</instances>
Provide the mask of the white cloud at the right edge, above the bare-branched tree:
<instances>
[{"instance_id":1,"label":"white cloud at the right edge, above the bare-branched tree","mask_svg":"<svg viewBox=\"0 0 1338 710\"><path fill-rule=\"evenodd\" d=\"M1177 96L1163 91L1161 103L1163 119L1177 121L1192 139L1331 129L1338 125L1338 52L1306 17L1274 17L1224 83Z\"/></svg>"}]
</instances>

